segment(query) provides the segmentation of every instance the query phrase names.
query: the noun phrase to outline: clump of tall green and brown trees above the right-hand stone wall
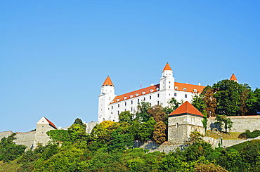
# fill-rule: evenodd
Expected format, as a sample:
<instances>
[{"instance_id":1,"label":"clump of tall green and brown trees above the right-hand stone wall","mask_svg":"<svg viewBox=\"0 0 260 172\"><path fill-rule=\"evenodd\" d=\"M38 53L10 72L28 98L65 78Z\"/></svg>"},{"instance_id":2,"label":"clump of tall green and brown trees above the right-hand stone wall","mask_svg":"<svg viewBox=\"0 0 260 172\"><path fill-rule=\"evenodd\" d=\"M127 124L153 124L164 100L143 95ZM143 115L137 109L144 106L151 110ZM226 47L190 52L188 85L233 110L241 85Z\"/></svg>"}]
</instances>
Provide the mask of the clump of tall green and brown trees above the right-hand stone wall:
<instances>
[{"instance_id":1,"label":"clump of tall green and brown trees above the right-hand stone wall","mask_svg":"<svg viewBox=\"0 0 260 172\"><path fill-rule=\"evenodd\" d=\"M206 86L192 103L207 117L219 115L242 116L260 113L260 89L254 91L248 84L224 79L213 86Z\"/></svg>"}]
</instances>

